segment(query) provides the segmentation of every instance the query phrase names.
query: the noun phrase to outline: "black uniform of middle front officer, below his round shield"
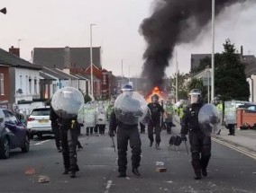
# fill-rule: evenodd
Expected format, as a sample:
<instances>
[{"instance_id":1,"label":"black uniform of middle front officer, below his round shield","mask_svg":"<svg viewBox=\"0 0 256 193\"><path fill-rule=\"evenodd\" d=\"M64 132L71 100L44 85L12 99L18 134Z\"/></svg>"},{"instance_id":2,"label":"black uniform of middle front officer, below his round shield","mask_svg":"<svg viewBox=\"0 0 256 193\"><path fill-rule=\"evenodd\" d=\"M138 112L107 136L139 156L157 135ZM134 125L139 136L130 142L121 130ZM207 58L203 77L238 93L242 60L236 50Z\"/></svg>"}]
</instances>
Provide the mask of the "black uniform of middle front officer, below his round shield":
<instances>
[{"instance_id":1,"label":"black uniform of middle front officer, below his round shield","mask_svg":"<svg viewBox=\"0 0 256 193\"><path fill-rule=\"evenodd\" d=\"M114 110L110 115L109 131L114 134L114 130L117 127L117 150L118 150L118 171L120 172L119 177L126 176L127 169L127 146L130 141L130 147L132 148L132 165L133 173L140 175L137 171L141 162L142 153L142 141L138 129L138 124L127 125L116 119ZM134 172L135 170L135 172Z\"/></svg>"}]
</instances>

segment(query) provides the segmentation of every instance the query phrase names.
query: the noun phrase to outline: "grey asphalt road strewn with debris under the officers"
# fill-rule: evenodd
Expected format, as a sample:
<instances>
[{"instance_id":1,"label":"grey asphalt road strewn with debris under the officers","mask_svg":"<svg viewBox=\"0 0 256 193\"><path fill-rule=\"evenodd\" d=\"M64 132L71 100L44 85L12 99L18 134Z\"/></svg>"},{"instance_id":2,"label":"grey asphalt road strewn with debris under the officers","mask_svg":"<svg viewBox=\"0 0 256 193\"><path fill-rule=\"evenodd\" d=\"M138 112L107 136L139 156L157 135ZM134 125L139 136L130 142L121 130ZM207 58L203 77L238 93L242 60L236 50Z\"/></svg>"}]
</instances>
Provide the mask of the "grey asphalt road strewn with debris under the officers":
<instances>
[{"instance_id":1,"label":"grey asphalt road strewn with debris under the officers","mask_svg":"<svg viewBox=\"0 0 256 193\"><path fill-rule=\"evenodd\" d=\"M0 192L88 192L88 193L157 193L157 192L256 192L256 160L213 141L208 177L193 179L190 153L184 144L178 151L168 148L169 135L162 131L161 149L149 147L142 135L141 177L131 172L131 151L128 153L127 178L117 178L117 153L108 136L80 136L84 146L78 150L78 178L63 175L62 156L52 137L31 141L31 151L13 150L8 160L0 160ZM115 140L116 141L116 140ZM188 145L189 146L189 145ZM256 156L255 156L256 157ZM164 163L163 166L157 163ZM156 168L165 167L166 172ZM33 171L34 170L34 171ZM32 171L26 174L26 171ZM40 176L50 178L39 183Z\"/></svg>"}]
</instances>

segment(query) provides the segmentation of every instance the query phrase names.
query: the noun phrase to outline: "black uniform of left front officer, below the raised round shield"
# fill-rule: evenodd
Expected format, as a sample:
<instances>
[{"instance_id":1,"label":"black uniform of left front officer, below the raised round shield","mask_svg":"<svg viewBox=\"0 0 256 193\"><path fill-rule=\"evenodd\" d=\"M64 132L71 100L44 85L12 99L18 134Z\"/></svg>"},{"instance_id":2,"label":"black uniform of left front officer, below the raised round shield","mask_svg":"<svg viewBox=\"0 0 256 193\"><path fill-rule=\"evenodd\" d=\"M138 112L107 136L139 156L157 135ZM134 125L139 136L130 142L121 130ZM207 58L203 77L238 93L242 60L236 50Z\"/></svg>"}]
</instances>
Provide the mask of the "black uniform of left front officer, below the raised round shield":
<instances>
[{"instance_id":1,"label":"black uniform of left front officer, below the raised round shield","mask_svg":"<svg viewBox=\"0 0 256 193\"><path fill-rule=\"evenodd\" d=\"M63 174L68 174L71 171L70 177L76 177L78 169L77 151L78 145L78 118L59 118L60 138L65 171Z\"/></svg>"}]
</instances>

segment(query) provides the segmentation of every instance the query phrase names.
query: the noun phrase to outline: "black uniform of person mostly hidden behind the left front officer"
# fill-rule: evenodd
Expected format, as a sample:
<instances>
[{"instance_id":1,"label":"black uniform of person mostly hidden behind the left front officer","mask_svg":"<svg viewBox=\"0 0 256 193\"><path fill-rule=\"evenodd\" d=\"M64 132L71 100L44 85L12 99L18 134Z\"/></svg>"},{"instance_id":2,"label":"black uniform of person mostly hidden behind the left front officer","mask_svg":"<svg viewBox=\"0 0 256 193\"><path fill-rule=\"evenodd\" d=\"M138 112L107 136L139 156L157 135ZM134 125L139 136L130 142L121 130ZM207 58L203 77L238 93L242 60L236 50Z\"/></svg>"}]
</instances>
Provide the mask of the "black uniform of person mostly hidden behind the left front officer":
<instances>
[{"instance_id":1,"label":"black uniform of person mostly hidden behind the left front officer","mask_svg":"<svg viewBox=\"0 0 256 193\"><path fill-rule=\"evenodd\" d=\"M60 134L59 134L59 124L58 124L58 115L54 112L50 105L50 121L52 133L55 137L55 144L57 149L60 151Z\"/></svg>"}]
</instances>

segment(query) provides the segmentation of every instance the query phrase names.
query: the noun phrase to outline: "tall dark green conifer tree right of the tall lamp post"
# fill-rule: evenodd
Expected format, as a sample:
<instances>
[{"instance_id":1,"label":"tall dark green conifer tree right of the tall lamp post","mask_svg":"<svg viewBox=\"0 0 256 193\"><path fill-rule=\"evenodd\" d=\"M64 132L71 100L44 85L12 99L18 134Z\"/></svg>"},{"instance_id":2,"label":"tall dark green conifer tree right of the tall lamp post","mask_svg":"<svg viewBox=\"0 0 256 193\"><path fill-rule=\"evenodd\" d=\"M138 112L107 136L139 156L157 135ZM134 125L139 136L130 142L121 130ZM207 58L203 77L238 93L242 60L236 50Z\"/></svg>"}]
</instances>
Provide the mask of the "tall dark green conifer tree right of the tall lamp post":
<instances>
[{"instance_id":1,"label":"tall dark green conifer tree right of the tall lamp post","mask_svg":"<svg viewBox=\"0 0 256 193\"><path fill-rule=\"evenodd\" d=\"M225 40L224 52L218 57L215 65L215 96L220 95L222 101L248 101L250 87L246 81L245 65L230 39Z\"/></svg>"}]
</instances>

